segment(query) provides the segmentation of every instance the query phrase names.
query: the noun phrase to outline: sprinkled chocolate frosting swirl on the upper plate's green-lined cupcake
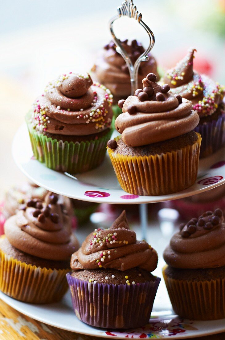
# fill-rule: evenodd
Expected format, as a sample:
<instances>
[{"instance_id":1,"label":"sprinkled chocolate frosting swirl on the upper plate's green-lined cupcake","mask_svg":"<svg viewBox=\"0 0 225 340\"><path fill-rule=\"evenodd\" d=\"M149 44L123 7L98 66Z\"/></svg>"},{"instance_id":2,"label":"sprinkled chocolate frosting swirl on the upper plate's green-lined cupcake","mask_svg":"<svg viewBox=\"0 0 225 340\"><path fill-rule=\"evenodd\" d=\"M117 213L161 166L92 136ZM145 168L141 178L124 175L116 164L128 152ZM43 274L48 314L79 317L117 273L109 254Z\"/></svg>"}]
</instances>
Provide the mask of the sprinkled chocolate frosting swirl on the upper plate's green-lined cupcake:
<instances>
[{"instance_id":1,"label":"sprinkled chocolate frosting swirl on the upper plate's green-lined cupcake","mask_svg":"<svg viewBox=\"0 0 225 340\"><path fill-rule=\"evenodd\" d=\"M31 122L42 133L83 136L110 127L112 95L88 73L69 72L49 82L33 105Z\"/></svg>"}]
</instances>

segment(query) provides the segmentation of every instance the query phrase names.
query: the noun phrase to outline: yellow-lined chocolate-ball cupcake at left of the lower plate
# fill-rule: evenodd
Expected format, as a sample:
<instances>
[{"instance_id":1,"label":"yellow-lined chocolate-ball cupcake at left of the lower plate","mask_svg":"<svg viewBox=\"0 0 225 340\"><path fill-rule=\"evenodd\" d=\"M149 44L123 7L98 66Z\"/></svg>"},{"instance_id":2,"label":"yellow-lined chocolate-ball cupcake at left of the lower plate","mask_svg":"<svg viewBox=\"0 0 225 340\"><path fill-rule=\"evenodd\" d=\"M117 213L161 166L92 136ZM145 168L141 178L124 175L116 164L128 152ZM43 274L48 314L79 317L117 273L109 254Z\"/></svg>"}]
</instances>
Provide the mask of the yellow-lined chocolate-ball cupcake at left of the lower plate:
<instances>
[{"instance_id":1,"label":"yellow-lined chocolate-ball cupcake at left of the lower plate","mask_svg":"<svg viewBox=\"0 0 225 340\"><path fill-rule=\"evenodd\" d=\"M58 195L30 199L5 222L0 240L0 290L31 303L59 301L67 290L65 274L78 241Z\"/></svg>"}]
</instances>

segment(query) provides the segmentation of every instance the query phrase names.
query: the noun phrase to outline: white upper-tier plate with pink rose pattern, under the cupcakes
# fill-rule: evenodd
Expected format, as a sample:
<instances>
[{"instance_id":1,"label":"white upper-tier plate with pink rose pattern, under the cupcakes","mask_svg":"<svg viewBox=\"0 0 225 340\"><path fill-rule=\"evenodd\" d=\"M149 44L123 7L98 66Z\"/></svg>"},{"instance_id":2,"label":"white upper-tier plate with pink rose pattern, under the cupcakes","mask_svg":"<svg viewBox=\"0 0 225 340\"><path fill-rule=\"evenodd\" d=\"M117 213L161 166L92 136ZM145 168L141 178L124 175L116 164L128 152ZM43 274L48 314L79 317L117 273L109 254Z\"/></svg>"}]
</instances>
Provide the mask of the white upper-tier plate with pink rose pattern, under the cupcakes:
<instances>
[{"instance_id":1,"label":"white upper-tier plate with pink rose pattern, under the cupcakes","mask_svg":"<svg viewBox=\"0 0 225 340\"><path fill-rule=\"evenodd\" d=\"M14 137L12 151L16 164L31 181L82 201L114 204L162 202L195 195L225 183L225 147L200 160L198 178L190 188L162 196L138 196L123 191L108 156L100 167L76 177L48 169L34 159L25 123Z\"/></svg>"}]
</instances>

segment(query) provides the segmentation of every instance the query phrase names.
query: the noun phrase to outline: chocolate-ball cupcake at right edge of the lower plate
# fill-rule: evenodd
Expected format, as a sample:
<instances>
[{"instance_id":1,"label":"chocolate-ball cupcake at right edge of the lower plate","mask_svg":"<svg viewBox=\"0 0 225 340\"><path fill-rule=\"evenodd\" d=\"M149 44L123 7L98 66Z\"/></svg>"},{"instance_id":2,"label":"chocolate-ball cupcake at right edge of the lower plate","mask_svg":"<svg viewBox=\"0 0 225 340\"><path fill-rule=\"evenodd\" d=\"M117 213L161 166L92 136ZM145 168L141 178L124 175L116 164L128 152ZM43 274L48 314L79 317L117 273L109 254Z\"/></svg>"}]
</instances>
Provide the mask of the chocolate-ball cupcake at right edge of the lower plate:
<instances>
[{"instance_id":1,"label":"chocolate-ball cupcake at right edge of the lower plate","mask_svg":"<svg viewBox=\"0 0 225 340\"><path fill-rule=\"evenodd\" d=\"M182 318L225 318L225 223L206 211L180 225L163 257L163 276L173 310Z\"/></svg>"}]
</instances>

